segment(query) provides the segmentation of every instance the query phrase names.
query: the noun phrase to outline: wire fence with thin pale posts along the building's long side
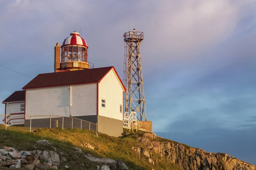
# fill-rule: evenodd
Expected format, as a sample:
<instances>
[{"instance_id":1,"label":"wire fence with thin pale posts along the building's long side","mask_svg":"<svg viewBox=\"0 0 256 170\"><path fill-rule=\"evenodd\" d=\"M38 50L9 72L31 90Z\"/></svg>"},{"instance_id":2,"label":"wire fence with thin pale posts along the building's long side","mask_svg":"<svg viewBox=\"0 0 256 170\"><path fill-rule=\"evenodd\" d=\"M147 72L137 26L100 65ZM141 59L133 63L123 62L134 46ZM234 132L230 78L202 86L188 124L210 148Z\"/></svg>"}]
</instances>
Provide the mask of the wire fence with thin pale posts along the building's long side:
<instances>
[{"instance_id":1,"label":"wire fence with thin pale posts along the building's long side","mask_svg":"<svg viewBox=\"0 0 256 170\"><path fill-rule=\"evenodd\" d=\"M66 116L25 116L24 113L15 113L10 115L2 115L5 119L3 122L5 124L5 129L9 126L24 126L31 128L62 128L62 129L88 129L88 130L98 130L98 124L88 122L83 119L78 119L75 117Z\"/></svg>"}]
</instances>

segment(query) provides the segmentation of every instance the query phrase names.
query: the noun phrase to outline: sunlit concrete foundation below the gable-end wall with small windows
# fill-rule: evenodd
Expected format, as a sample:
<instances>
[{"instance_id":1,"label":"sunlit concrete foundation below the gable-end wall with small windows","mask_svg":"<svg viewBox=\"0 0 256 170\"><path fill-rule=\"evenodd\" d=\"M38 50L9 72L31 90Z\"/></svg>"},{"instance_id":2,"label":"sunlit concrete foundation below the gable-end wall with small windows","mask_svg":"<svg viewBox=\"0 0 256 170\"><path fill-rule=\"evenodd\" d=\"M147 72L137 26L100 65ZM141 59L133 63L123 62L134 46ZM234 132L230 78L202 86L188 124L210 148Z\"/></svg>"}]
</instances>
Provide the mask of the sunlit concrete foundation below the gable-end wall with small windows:
<instances>
[{"instance_id":1,"label":"sunlit concrete foundation below the gable-end wall with small windows","mask_svg":"<svg viewBox=\"0 0 256 170\"><path fill-rule=\"evenodd\" d=\"M123 121L98 116L98 130L109 136L119 137L123 133Z\"/></svg>"}]
</instances>

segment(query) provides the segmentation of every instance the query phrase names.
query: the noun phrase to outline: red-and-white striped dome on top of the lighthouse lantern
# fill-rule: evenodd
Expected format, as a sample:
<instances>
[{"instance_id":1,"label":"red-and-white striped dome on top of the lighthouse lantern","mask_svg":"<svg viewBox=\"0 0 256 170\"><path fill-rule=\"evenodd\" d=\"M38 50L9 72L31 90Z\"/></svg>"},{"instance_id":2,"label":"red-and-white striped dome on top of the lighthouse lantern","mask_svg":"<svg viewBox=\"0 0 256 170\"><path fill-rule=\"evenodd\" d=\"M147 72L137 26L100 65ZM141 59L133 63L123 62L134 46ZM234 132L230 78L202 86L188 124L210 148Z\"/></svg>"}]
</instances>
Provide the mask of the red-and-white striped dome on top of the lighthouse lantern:
<instances>
[{"instance_id":1,"label":"red-and-white striped dome on top of the lighthouse lantern","mask_svg":"<svg viewBox=\"0 0 256 170\"><path fill-rule=\"evenodd\" d=\"M64 45L82 45L82 46L87 47L86 41L79 35L80 34L76 31L70 33L70 36L64 40L62 46L64 46Z\"/></svg>"}]
</instances>

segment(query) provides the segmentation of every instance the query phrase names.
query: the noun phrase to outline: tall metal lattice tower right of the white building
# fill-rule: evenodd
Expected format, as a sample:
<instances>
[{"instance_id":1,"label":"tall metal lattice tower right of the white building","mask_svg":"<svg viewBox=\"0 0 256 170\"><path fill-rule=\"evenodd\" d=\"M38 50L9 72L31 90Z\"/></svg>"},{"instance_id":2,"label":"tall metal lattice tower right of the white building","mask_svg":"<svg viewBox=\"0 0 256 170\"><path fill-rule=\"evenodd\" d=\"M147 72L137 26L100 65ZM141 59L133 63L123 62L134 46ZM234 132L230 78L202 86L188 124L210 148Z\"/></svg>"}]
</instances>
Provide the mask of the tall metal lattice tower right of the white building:
<instances>
[{"instance_id":1,"label":"tall metal lattice tower right of the white building","mask_svg":"<svg viewBox=\"0 0 256 170\"><path fill-rule=\"evenodd\" d=\"M124 41L123 82L126 88L124 95L125 111L128 113L137 112L137 119L146 121L147 115L140 58L140 43L143 41L143 32L137 32L135 29L134 31L126 32Z\"/></svg>"}]
</instances>

